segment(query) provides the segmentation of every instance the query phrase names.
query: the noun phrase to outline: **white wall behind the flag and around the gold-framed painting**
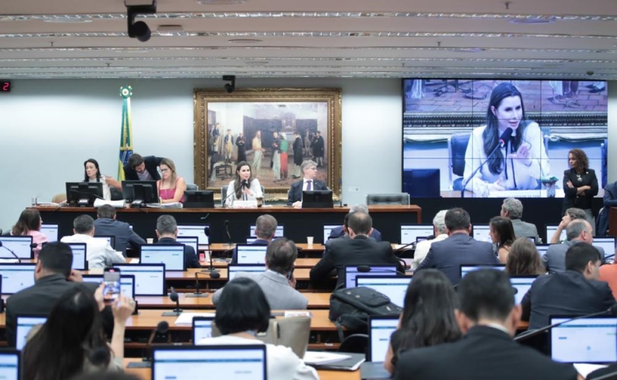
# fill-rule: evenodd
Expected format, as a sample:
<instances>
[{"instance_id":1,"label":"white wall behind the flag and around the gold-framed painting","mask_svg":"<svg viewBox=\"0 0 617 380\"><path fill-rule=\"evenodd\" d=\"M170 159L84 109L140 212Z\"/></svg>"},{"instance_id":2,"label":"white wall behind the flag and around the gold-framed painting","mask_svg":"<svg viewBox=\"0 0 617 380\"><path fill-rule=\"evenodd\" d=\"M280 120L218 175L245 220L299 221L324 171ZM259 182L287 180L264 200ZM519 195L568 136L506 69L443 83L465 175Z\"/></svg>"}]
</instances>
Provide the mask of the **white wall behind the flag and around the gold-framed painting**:
<instances>
[{"instance_id":1,"label":"white wall behind the flag and around the gold-framed painting","mask_svg":"<svg viewBox=\"0 0 617 380\"><path fill-rule=\"evenodd\" d=\"M0 94L0 228L10 228L32 196L49 201L65 182L81 180L88 158L117 175L125 84L133 86L135 152L172 158L193 182L193 89L220 88L220 79L15 80ZM341 87L344 203L400 191L400 79L239 78L236 86Z\"/></svg>"}]
</instances>

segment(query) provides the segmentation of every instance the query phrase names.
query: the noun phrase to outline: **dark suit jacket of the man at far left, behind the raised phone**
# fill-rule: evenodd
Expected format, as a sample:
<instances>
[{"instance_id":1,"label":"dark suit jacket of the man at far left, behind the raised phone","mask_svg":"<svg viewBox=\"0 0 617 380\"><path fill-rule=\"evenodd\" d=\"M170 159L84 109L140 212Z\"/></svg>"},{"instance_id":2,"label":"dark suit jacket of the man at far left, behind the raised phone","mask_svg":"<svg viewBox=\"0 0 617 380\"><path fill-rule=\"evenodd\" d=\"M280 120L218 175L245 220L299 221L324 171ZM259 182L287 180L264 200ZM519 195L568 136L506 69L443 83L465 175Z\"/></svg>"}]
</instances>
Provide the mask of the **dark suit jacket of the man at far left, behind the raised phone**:
<instances>
[{"instance_id":1,"label":"dark suit jacket of the man at far left, behind the raised phone","mask_svg":"<svg viewBox=\"0 0 617 380\"><path fill-rule=\"evenodd\" d=\"M15 323L19 314L48 315L56 301L74 286L83 285L94 294L98 284L67 281L61 274L41 277L35 285L22 289L6 301L6 338L9 347L15 347ZM107 319L107 318L106 318ZM113 322L112 322L113 326Z\"/></svg>"}]
</instances>

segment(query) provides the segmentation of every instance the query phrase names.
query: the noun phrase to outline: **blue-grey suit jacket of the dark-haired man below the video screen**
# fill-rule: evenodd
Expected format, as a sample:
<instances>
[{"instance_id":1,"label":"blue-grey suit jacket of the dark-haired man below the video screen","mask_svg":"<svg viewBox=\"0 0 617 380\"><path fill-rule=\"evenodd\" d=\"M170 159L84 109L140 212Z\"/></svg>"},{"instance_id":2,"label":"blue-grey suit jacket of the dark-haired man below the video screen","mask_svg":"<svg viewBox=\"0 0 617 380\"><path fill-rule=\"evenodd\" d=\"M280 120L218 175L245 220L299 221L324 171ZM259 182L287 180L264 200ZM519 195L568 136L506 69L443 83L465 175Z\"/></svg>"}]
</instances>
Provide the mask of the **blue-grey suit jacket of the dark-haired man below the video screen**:
<instances>
[{"instance_id":1,"label":"blue-grey suit jacket of the dark-haired man below the video screen","mask_svg":"<svg viewBox=\"0 0 617 380\"><path fill-rule=\"evenodd\" d=\"M461 264L499 264L499 258L491 243L475 240L466 233L455 233L431 244L431 249L416 270L439 269L452 285L457 285L461 278Z\"/></svg>"}]
</instances>

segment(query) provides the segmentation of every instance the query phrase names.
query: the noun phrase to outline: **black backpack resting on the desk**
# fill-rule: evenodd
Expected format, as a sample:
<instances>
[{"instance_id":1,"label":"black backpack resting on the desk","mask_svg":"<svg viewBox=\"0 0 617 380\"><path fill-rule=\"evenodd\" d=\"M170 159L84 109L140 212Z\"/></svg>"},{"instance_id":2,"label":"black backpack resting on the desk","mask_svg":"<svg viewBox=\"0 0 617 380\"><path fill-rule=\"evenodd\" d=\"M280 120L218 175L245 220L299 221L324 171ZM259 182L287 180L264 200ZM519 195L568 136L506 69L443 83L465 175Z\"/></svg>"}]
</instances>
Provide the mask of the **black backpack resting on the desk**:
<instances>
[{"instance_id":1,"label":"black backpack resting on the desk","mask_svg":"<svg viewBox=\"0 0 617 380\"><path fill-rule=\"evenodd\" d=\"M402 311L385 294L358 286L337 289L330 295L328 318L336 325L342 341L342 326L354 333L365 333L370 315L400 315Z\"/></svg>"}]
</instances>

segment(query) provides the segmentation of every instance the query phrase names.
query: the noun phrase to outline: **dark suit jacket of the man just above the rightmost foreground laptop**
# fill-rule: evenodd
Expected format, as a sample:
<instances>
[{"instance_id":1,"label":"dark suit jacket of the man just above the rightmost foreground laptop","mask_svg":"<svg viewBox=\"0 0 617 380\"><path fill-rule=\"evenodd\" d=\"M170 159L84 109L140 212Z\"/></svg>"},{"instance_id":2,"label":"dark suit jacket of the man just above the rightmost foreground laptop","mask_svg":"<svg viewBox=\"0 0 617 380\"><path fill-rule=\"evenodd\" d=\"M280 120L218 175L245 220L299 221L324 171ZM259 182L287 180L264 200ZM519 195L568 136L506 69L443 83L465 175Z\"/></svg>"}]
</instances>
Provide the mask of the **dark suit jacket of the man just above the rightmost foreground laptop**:
<instances>
[{"instance_id":1,"label":"dark suit jacket of the man just above the rightmost foreground laptop","mask_svg":"<svg viewBox=\"0 0 617 380\"><path fill-rule=\"evenodd\" d=\"M529 321L529 329L536 329L549 325L549 315L586 315L608 310L613 304L615 297L607 283L566 270L534 281L521 301L521 319Z\"/></svg>"}]
</instances>

